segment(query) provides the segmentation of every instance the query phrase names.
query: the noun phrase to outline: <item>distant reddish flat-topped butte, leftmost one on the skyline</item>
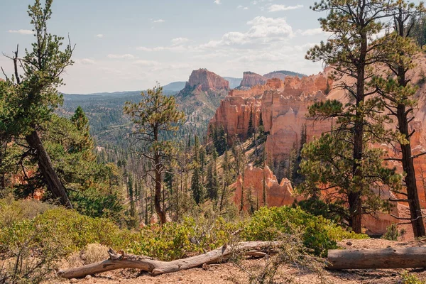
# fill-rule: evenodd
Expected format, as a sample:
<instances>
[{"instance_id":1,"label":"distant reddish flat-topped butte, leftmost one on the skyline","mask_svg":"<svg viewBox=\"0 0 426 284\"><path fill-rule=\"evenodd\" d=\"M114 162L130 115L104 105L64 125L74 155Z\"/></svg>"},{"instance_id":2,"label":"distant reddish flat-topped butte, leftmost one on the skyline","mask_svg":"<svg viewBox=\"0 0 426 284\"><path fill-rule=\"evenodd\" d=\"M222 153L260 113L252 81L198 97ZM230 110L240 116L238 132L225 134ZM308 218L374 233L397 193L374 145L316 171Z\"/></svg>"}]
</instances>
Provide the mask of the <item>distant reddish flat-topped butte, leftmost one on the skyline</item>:
<instances>
[{"instance_id":1,"label":"distant reddish flat-topped butte, leftmost one on the skyline","mask_svg":"<svg viewBox=\"0 0 426 284\"><path fill-rule=\"evenodd\" d=\"M199 69L192 71L187 86L195 87L200 91L207 92L213 90L229 90L229 82L219 75L210 72L207 69Z\"/></svg>"}]
</instances>

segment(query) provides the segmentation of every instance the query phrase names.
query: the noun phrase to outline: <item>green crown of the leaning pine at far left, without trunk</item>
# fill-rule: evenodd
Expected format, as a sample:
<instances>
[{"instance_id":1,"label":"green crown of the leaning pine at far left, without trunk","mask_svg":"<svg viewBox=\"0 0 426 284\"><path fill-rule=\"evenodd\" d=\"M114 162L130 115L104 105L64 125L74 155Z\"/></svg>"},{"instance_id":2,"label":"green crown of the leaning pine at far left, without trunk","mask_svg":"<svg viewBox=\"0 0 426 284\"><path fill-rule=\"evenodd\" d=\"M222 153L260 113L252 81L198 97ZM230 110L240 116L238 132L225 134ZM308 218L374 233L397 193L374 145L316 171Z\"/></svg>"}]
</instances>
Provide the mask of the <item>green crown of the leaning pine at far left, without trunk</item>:
<instances>
[{"instance_id":1,"label":"green crown of the leaning pine at far left, without trunk","mask_svg":"<svg viewBox=\"0 0 426 284\"><path fill-rule=\"evenodd\" d=\"M62 104L62 95L57 91L63 84L60 75L74 63L71 60L72 46L68 44L65 50L60 50L64 38L48 33L52 2L46 0L43 7L40 0L36 0L33 6L28 7L35 43L19 60L23 75L11 78L13 87L8 90L11 111L0 119L14 136L28 135L50 120L53 111ZM17 53L18 50L16 57Z\"/></svg>"}]
</instances>

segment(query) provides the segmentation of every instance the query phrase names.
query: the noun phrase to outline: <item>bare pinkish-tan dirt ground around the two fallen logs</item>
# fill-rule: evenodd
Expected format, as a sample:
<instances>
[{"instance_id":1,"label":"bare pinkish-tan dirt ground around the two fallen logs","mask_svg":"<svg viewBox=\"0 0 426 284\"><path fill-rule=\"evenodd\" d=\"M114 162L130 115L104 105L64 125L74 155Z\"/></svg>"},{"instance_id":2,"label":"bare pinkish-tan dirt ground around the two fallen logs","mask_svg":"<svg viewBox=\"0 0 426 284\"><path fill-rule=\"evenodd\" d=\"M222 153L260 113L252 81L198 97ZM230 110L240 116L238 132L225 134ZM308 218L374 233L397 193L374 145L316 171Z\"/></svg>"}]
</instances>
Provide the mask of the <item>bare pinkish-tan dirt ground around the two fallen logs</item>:
<instances>
[{"instance_id":1,"label":"bare pinkish-tan dirt ground around the two fallen logs","mask_svg":"<svg viewBox=\"0 0 426 284\"><path fill-rule=\"evenodd\" d=\"M426 246L426 241L386 241L382 239L345 240L339 243L345 249L381 249L389 246ZM241 261L241 267L234 263L192 268L153 277L147 273L132 270L111 271L96 276L88 276L80 280L63 280L55 278L45 284L54 283L81 283L81 284L244 284L250 283L250 275L256 275L265 266L265 259L252 259ZM402 283L401 274L405 269L376 269L376 270L351 270L351 271L322 271L323 283ZM426 280L426 270L408 270L420 280ZM322 283L316 273L301 271L293 266L283 266L278 270L274 283Z\"/></svg>"}]
</instances>

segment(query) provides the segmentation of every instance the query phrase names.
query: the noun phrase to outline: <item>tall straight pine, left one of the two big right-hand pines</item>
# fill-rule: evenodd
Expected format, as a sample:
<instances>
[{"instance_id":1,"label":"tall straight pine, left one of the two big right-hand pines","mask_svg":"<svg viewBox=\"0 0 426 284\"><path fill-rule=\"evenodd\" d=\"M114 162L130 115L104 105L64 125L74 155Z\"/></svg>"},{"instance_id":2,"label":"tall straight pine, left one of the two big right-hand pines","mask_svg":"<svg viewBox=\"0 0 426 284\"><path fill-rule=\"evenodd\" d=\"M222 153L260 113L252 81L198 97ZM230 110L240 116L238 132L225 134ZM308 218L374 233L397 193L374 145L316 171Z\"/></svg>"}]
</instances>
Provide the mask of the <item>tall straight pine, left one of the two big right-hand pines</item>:
<instances>
[{"instance_id":1,"label":"tall straight pine, left one of the two big right-hand pines","mask_svg":"<svg viewBox=\"0 0 426 284\"><path fill-rule=\"evenodd\" d=\"M337 87L349 94L351 104L346 108L337 101L328 101L311 107L312 116L339 117L339 133L351 133L351 149L353 163L351 170L351 188L346 188L349 203L349 225L356 233L361 233L361 216L363 213L362 194L366 192L364 182L366 173L361 167L366 159L367 132L372 129L368 124L367 116L373 114L374 99L368 98L375 93L368 90L366 80L373 75L372 66L379 62L373 53L377 45L368 45L373 36L381 31L384 24L382 18L390 16L388 0L377 1L341 1L324 0L315 3L314 11L327 12L326 18L320 18L323 31L332 33L327 43L321 43L311 48L306 58L312 61L322 61L334 69L334 78L349 76L354 83L344 80ZM376 131L376 129L374 129ZM376 133L374 133L376 134ZM371 141L371 140L370 140ZM327 181L329 182L329 181Z\"/></svg>"}]
</instances>

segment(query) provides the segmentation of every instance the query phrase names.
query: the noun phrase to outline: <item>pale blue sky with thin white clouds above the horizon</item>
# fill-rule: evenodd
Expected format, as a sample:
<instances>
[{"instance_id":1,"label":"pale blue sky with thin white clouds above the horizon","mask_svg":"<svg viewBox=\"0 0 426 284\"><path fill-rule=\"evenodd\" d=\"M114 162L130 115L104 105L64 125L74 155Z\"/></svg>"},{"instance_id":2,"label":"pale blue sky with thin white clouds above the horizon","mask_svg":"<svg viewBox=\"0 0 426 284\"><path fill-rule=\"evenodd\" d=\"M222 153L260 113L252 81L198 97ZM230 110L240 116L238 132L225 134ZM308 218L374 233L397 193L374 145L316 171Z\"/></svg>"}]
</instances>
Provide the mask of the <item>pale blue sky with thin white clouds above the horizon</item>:
<instances>
[{"instance_id":1,"label":"pale blue sky with thin white clouds above the horizon","mask_svg":"<svg viewBox=\"0 0 426 284\"><path fill-rule=\"evenodd\" d=\"M43 1L43 0L42 0ZM222 77L322 70L306 51L327 40L314 0L54 0L50 33L70 35L75 64L61 92L122 92L187 81L207 68ZM0 52L33 41L33 0L0 0ZM0 55L11 74L11 61Z\"/></svg>"}]
</instances>

